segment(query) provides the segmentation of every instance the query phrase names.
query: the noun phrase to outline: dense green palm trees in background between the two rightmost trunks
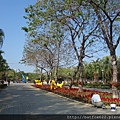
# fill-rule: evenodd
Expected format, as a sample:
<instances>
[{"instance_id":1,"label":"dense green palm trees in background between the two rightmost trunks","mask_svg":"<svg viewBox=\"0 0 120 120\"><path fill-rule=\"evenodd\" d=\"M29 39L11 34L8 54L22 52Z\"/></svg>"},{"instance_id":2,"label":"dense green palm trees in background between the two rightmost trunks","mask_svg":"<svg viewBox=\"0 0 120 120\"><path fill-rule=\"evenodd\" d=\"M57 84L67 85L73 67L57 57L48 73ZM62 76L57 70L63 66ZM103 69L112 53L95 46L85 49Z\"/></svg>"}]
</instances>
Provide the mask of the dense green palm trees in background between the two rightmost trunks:
<instances>
[{"instance_id":1,"label":"dense green palm trees in background between the two rightmost trunks","mask_svg":"<svg viewBox=\"0 0 120 120\"><path fill-rule=\"evenodd\" d=\"M119 59L120 58L117 58L117 60ZM84 64L84 78L94 80L96 82L98 80L101 80L104 83L109 83L112 79L111 68L112 65L110 61L110 56L105 56L90 63L86 62Z\"/></svg>"}]
</instances>

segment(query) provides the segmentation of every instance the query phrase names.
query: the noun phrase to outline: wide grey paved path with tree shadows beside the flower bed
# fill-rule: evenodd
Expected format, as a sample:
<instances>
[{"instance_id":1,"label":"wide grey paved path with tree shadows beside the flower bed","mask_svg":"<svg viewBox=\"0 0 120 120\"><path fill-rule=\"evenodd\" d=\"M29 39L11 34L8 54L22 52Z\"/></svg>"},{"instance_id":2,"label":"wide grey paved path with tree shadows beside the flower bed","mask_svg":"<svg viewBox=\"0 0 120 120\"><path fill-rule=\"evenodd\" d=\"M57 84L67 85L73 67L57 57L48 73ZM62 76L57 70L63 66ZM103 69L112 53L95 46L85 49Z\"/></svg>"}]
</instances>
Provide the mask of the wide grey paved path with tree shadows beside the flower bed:
<instances>
[{"instance_id":1,"label":"wide grey paved path with tree shadows beside the flower bed","mask_svg":"<svg viewBox=\"0 0 120 120\"><path fill-rule=\"evenodd\" d=\"M0 115L83 115L119 114L117 111L97 109L31 86L31 83L12 83L0 92Z\"/></svg>"}]
</instances>

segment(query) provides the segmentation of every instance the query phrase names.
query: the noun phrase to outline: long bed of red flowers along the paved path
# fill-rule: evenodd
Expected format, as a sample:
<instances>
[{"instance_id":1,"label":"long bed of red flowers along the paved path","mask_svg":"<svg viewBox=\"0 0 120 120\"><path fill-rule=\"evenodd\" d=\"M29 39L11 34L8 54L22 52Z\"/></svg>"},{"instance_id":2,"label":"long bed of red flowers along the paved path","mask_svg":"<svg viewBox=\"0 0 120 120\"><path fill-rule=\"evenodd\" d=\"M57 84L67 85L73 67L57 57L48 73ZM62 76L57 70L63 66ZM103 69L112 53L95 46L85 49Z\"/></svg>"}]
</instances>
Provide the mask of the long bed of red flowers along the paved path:
<instances>
[{"instance_id":1,"label":"long bed of red flowers along the paved path","mask_svg":"<svg viewBox=\"0 0 120 120\"><path fill-rule=\"evenodd\" d=\"M88 103L88 104L91 104L91 94L97 93L100 95L101 100L105 103L105 105L110 105L114 103L117 106L120 106L120 99L112 98L112 93L108 93L108 92L83 89L82 92L78 93L78 88L69 89L69 88L63 87L63 88L57 88L54 90L50 90L49 85L32 85L32 86L53 92L55 94L59 94L61 96L68 97L74 100L78 100L80 102Z\"/></svg>"}]
</instances>

